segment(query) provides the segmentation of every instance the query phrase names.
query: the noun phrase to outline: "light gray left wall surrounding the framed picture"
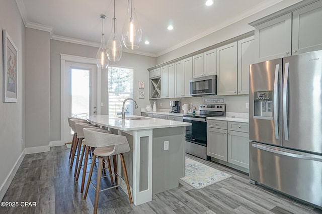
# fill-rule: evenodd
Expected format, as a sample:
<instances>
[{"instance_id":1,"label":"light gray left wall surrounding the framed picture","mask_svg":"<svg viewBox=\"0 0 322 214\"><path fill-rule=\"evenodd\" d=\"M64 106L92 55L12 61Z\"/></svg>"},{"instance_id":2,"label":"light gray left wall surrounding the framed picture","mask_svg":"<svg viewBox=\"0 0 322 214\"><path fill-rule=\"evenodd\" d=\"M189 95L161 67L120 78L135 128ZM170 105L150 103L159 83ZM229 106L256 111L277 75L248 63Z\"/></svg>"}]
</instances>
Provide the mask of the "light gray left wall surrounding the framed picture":
<instances>
[{"instance_id":1,"label":"light gray left wall surrounding the framed picture","mask_svg":"<svg viewBox=\"0 0 322 214\"><path fill-rule=\"evenodd\" d=\"M8 186L4 186L19 156L23 153L25 130L25 27L20 17L16 1L1 0L0 7L0 200ZM18 102L3 103L3 33L7 33L18 48ZM10 182L9 181L9 182Z\"/></svg>"}]
</instances>

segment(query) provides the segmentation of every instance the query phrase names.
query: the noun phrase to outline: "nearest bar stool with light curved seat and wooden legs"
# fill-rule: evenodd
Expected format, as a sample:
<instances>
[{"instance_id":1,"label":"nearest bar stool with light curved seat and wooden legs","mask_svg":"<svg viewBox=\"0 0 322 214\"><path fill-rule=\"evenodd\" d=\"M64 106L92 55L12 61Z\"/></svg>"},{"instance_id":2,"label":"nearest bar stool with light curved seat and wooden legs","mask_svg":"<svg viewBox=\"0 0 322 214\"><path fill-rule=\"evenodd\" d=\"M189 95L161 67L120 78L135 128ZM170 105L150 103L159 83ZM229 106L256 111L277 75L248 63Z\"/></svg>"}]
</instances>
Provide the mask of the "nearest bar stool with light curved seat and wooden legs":
<instances>
[{"instance_id":1,"label":"nearest bar stool with light curved seat and wooden legs","mask_svg":"<svg viewBox=\"0 0 322 214\"><path fill-rule=\"evenodd\" d=\"M118 185L117 184L117 177L120 177L122 180L125 181L129 200L130 200L130 203L132 203L131 190L130 190L130 185L129 185L129 181L128 181L128 177L127 177L126 166L125 166L124 156L123 156L124 152L130 151L130 146L129 146L129 143L128 143L126 137L122 136L122 135L104 133L104 132L101 132L100 129L93 129L93 128L84 128L83 131L84 131L87 145L91 146L91 147L96 147L96 149L94 150L93 159L95 159L96 156L99 157L99 165L98 165L98 170L97 170L98 173L97 173L97 178L96 178L96 187L94 186L94 184L91 180L94 165L95 165L95 162L92 161L89 179L87 181L86 190L85 190L85 194L84 194L84 199L86 199L90 183L92 183L92 185L94 186L94 188L96 190L95 191L95 201L94 201L94 214L97 213L100 191L107 190L110 188L115 188L115 187L118 187L118 186L124 184L123 183L123 184ZM109 156L117 155L117 154L119 154L121 157L124 178L116 173L117 168L115 167L113 175L115 176L116 185L100 190L102 173L99 173L99 172L102 171L103 160L105 157L109 157ZM113 162L114 162L114 160L113 160Z\"/></svg>"}]
</instances>

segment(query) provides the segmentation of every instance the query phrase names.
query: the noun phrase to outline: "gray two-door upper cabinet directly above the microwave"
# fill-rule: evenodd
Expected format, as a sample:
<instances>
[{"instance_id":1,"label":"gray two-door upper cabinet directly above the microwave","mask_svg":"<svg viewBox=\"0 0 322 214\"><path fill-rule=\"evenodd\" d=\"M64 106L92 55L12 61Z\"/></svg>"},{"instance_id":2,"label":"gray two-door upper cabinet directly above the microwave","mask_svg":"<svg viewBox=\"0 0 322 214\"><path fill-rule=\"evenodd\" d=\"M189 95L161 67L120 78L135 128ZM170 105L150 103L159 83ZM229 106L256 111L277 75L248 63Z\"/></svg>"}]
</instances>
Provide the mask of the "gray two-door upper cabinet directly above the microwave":
<instances>
[{"instance_id":1,"label":"gray two-door upper cabinet directly above the microwave","mask_svg":"<svg viewBox=\"0 0 322 214\"><path fill-rule=\"evenodd\" d=\"M217 74L217 49L192 57L193 78Z\"/></svg>"}]
</instances>

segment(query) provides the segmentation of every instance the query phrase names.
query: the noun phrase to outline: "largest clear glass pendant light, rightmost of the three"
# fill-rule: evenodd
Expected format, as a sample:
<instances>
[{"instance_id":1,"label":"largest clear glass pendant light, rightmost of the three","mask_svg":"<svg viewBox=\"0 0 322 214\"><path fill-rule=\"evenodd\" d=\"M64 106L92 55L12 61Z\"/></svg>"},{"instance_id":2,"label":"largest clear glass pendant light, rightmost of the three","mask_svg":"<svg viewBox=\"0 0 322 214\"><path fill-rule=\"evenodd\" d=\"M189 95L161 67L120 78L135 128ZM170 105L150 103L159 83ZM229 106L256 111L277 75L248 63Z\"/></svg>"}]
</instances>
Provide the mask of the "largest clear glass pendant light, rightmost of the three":
<instances>
[{"instance_id":1,"label":"largest clear glass pendant light, rightmost of the three","mask_svg":"<svg viewBox=\"0 0 322 214\"><path fill-rule=\"evenodd\" d=\"M130 50L137 49L142 39L142 29L136 18L133 1L128 0L128 9L122 31L124 46Z\"/></svg>"}]
</instances>

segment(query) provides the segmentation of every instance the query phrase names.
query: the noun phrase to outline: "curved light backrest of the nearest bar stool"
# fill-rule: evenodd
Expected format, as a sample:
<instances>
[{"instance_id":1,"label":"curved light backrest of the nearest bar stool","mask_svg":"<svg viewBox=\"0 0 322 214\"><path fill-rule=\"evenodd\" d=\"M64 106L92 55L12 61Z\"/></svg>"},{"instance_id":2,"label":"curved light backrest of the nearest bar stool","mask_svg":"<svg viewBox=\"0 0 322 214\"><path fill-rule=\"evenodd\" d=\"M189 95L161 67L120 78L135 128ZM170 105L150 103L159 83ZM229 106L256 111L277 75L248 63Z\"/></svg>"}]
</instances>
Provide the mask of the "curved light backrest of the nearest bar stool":
<instances>
[{"instance_id":1,"label":"curved light backrest of the nearest bar stool","mask_svg":"<svg viewBox=\"0 0 322 214\"><path fill-rule=\"evenodd\" d=\"M114 146L113 153L110 155L130 151L130 146L125 136L106 133L102 129L84 128L83 131L89 146Z\"/></svg>"}]
</instances>

